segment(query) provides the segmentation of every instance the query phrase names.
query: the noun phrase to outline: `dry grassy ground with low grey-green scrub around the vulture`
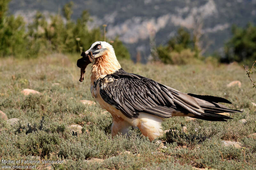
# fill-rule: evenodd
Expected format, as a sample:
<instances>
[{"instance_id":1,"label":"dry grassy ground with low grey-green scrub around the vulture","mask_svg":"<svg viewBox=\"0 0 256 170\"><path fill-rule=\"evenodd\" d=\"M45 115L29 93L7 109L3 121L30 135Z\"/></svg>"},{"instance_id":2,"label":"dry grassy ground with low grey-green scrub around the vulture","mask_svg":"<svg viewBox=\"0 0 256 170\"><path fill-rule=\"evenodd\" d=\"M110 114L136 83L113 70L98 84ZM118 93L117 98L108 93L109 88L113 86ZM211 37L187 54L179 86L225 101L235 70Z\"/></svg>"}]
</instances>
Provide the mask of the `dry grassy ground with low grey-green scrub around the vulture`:
<instances>
[{"instance_id":1,"label":"dry grassy ground with low grey-green scrub around the vulture","mask_svg":"<svg viewBox=\"0 0 256 170\"><path fill-rule=\"evenodd\" d=\"M233 103L244 113L231 115L228 122L187 121L173 117L163 128L177 129L160 139L166 147L158 149L134 129L129 137L111 137L112 118L99 105L87 106L79 100L93 100L90 94L90 67L80 83L79 55L54 54L37 59L0 59L0 110L16 125L0 120L0 159L64 160L54 169L256 169L256 141L247 135L256 132L256 92L242 65L163 65L121 61L124 70L152 78L182 92L215 95ZM227 87L233 80L242 87ZM59 83L59 85L53 85ZM41 92L24 96L30 88ZM247 123L240 123L246 119ZM74 135L67 127L79 124L82 133ZM188 132L182 132L182 126ZM73 134L73 135L72 135ZM221 140L238 141L242 148L224 147ZM130 154L124 153L130 151ZM103 162L89 163L100 158ZM1 163L1 165L5 165ZM14 163L8 165L34 165ZM46 168L47 164L36 164Z\"/></svg>"}]
</instances>

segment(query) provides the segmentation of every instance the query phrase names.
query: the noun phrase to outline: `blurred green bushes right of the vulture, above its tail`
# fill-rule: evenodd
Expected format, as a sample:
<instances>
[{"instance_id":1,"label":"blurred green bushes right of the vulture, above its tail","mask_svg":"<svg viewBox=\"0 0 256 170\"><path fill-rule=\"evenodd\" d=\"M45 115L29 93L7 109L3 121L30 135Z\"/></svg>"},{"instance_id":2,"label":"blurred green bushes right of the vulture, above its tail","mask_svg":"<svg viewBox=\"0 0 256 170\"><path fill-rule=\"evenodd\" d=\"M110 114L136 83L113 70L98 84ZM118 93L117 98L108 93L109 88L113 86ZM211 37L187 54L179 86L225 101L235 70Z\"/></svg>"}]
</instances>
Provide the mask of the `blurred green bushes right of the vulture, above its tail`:
<instances>
[{"instance_id":1,"label":"blurred green bushes right of the vulture, above its tail","mask_svg":"<svg viewBox=\"0 0 256 170\"><path fill-rule=\"evenodd\" d=\"M214 53L212 56L203 57L200 55L200 48L196 46L195 38L190 33L179 28L177 35L168 41L166 46L157 47L159 58L163 63L187 64L206 59L211 62L242 62L251 64L256 59L256 26L252 23L245 28L232 26L232 38L224 46L224 55Z\"/></svg>"}]
</instances>

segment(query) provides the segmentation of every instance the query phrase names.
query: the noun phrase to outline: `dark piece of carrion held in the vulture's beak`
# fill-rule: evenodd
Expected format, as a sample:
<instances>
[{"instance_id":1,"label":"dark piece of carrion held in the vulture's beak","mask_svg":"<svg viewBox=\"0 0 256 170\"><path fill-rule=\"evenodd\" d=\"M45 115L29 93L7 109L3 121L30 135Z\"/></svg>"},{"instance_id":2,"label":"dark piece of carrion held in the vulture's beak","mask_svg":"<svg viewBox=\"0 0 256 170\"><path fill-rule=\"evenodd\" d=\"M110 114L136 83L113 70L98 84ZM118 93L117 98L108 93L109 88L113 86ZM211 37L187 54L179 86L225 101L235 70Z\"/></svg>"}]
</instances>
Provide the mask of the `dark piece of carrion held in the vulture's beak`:
<instances>
[{"instance_id":1,"label":"dark piece of carrion held in the vulture's beak","mask_svg":"<svg viewBox=\"0 0 256 170\"><path fill-rule=\"evenodd\" d=\"M80 82L84 80L84 73L87 65L92 63L94 59L92 52L90 52L89 54L85 54L85 52L82 52L81 56L83 56L83 58L78 59L76 63L77 67L81 68L81 75L79 79Z\"/></svg>"}]
</instances>

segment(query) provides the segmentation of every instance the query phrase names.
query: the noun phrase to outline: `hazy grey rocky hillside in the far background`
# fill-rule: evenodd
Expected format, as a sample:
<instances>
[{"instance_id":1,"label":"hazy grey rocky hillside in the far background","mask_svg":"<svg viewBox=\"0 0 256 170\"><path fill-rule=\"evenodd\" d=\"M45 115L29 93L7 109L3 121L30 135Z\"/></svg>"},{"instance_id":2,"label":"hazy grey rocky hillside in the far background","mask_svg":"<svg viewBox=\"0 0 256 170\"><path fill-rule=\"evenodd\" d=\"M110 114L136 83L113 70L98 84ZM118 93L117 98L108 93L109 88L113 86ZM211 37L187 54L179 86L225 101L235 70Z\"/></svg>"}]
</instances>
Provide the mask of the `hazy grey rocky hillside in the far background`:
<instances>
[{"instance_id":1,"label":"hazy grey rocky hillside in the far background","mask_svg":"<svg viewBox=\"0 0 256 170\"><path fill-rule=\"evenodd\" d=\"M10 12L26 16L27 21L35 10L58 13L67 0L33 1L12 0ZM91 26L107 24L107 36L119 35L130 49L132 57L138 50L147 59L150 53L149 35L156 34L156 44L165 44L178 27L199 29L202 34L202 48L205 54L221 51L225 41L230 38L231 26L245 26L256 23L255 0L197 0L163 1L144 0L73 0L76 19L83 10L88 10L93 18ZM200 28L202 26L202 28Z\"/></svg>"}]
</instances>

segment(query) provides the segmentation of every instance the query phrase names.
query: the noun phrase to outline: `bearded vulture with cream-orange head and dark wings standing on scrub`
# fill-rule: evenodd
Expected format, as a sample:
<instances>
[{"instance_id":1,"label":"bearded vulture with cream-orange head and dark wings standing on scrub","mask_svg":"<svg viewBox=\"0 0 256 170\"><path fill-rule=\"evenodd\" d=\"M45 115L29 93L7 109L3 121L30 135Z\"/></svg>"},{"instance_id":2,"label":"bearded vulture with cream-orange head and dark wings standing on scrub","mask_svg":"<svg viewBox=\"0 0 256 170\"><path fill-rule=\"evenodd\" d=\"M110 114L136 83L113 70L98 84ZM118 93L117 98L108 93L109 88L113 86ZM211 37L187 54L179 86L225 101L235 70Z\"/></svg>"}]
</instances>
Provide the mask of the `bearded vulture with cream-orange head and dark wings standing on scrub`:
<instances>
[{"instance_id":1,"label":"bearded vulture with cream-orange head and dark wings standing on scrub","mask_svg":"<svg viewBox=\"0 0 256 170\"><path fill-rule=\"evenodd\" d=\"M138 127L152 141L163 135L161 123L164 118L189 116L207 121L226 121L232 118L219 113L241 112L219 104L231 104L227 99L183 93L124 71L113 47L105 41L94 42L83 53L93 55L91 94L112 115L112 136L125 134L132 126Z\"/></svg>"}]
</instances>

